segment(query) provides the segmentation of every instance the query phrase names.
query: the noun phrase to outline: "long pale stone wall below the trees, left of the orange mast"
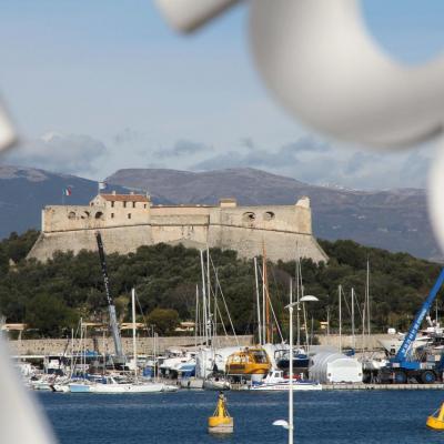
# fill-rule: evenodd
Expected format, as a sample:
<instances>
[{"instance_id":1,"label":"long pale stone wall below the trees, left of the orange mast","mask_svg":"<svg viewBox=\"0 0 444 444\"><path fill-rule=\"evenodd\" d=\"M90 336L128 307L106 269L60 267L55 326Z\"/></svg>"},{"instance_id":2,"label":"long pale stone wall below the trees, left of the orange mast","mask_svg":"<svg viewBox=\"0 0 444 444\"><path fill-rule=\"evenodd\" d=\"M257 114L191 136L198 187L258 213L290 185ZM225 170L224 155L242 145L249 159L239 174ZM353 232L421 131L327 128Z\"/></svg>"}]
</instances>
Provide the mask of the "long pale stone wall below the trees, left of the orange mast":
<instances>
[{"instance_id":1,"label":"long pale stone wall below the trees, left of the orange mast","mask_svg":"<svg viewBox=\"0 0 444 444\"><path fill-rule=\"evenodd\" d=\"M253 336L242 335L238 336L240 345L252 345ZM234 346L236 341L233 336L218 336L215 345L219 347ZM198 343L203 343L203 339L198 339ZM71 350L71 341L67 339L51 339L51 340L21 340L21 341L9 341L10 350L13 355L44 355L44 354L60 354L68 350ZM122 337L123 352L125 354L132 354L132 337ZM103 340L97 337L95 346L98 352L103 352ZM158 353L163 353L167 349L176 349L184 346L194 346L194 336L170 336L170 337L158 337L157 347ZM87 339L87 350L94 350L94 340ZM80 340L74 340L74 350L80 349ZM114 343L112 339L105 339L104 349L107 352L113 352ZM138 353L151 354L153 352L153 340L152 337L138 337Z\"/></svg>"}]
</instances>

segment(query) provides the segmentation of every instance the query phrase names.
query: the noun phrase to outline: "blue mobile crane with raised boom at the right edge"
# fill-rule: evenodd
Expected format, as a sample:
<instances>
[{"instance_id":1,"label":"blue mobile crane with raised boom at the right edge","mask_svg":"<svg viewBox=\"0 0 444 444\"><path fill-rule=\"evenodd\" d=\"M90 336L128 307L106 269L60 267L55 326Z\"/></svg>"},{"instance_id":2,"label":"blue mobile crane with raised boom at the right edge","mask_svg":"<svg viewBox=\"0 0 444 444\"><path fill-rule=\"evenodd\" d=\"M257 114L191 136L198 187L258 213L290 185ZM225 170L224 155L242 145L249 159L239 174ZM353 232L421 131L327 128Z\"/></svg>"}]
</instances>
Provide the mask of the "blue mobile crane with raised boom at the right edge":
<instances>
[{"instance_id":1,"label":"blue mobile crane with raised boom at the right edge","mask_svg":"<svg viewBox=\"0 0 444 444\"><path fill-rule=\"evenodd\" d=\"M435 382L438 377L437 372L442 370L443 359L440 361L438 364L427 362L423 363L416 361L413 356L411 356L411 349L413 341L416 339L417 332L421 329L421 324L424 321L425 315L432 309L433 302L435 301L440 289L443 286L443 283L444 269L437 276L433 289L428 293L427 299L422 304L421 310L416 313L416 316L413 320L408 332L405 334L404 341L400 350L397 351L396 355L390 360L390 363L384 369L385 372L393 372L394 381L397 383L405 383L407 382L408 377L415 377L417 381L423 383L432 383Z\"/></svg>"}]
</instances>

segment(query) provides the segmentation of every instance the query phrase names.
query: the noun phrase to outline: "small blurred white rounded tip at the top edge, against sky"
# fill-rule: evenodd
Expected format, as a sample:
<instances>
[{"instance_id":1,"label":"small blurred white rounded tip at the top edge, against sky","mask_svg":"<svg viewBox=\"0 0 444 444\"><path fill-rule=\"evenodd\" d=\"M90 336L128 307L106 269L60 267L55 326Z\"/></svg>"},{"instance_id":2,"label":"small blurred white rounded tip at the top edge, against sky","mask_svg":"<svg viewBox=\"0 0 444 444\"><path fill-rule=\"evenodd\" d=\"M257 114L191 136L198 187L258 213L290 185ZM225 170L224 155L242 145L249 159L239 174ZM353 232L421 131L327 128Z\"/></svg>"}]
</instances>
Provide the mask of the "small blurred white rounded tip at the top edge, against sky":
<instances>
[{"instance_id":1,"label":"small blurred white rounded tip at the top edge, against sky","mask_svg":"<svg viewBox=\"0 0 444 444\"><path fill-rule=\"evenodd\" d=\"M180 32L191 32L239 0L155 0L167 21Z\"/></svg>"}]
</instances>

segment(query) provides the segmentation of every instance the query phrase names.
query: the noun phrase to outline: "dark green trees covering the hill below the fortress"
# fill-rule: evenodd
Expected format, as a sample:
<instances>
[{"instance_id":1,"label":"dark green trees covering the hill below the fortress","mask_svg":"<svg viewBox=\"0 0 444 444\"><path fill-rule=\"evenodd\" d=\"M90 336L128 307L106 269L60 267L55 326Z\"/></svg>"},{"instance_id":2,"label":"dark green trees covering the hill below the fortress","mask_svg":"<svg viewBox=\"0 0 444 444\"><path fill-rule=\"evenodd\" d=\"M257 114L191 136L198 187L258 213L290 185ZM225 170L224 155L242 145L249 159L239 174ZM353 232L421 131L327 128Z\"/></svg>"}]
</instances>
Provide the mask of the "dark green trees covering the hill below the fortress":
<instances>
[{"instance_id":1,"label":"dark green trees covering the hill below the fortress","mask_svg":"<svg viewBox=\"0 0 444 444\"><path fill-rule=\"evenodd\" d=\"M99 258L94 252L58 253L42 264L24 259L38 233L11 234L0 242L0 313L8 322L27 322L42 336L63 335L83 316L105 321L107 307ZM320 242L330 261L302 262L305 294L320 302L310 304L309 319L314 329L325 321L330 310L331 330L337 327L337 285L342 284L350 305L354 287L362 306L365 269L371 266L371 313L373 331L389 326L405 330L432 287L440 265L405 253L361 246L352 241ZM107 249L107 245L104 245ZM223 294L239 334L253 333L255 325L255 286L252 261L240 260L233 251L211 250ZM13 263L9 260L12 259ZM128 255L107 258L111 291L119 317L128 321L130 291L134 286L150 324L161 334L174 331L179 321L194 320L195 285L201 282L199 251L182 245L141 246ZM289 282L295 262L269 265L270 294L284 331L287 315ZM213 279L213 283L214 283ZM344 330L350 326L347 304L343 303ZM441 311L441 303L438 304ZM222 316L229 330L228 317ZM356 310L356 324L360 325Z\"/></svg>"}]
</instances>

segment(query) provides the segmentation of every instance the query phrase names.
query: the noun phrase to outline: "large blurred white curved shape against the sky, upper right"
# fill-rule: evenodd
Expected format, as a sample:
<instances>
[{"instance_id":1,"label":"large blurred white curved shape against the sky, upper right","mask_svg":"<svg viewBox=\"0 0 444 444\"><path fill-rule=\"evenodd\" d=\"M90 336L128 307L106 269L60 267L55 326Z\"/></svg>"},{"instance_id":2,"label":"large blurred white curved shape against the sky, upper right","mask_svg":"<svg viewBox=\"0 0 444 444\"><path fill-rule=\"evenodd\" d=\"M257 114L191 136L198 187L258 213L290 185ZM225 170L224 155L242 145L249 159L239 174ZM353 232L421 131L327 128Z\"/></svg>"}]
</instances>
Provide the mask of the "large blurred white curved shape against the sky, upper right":
<instances>
[{"instance_id":1,"label":"large blurred white curved shape against the sky, upper right","mask_svg":"<svg viewBox=\"0 0 444 444\"><path fill-rule=\"evenodd\" d=\"M444 58L397 64L367 33L357 0L254 0L250 8L256 67L296 119L375 147L442 131Z\"/></svg>"}]
</instances>

